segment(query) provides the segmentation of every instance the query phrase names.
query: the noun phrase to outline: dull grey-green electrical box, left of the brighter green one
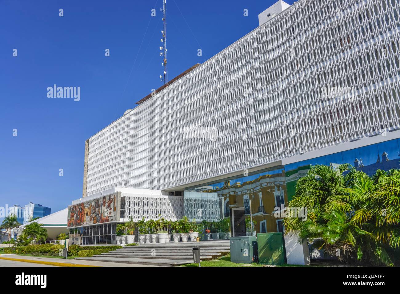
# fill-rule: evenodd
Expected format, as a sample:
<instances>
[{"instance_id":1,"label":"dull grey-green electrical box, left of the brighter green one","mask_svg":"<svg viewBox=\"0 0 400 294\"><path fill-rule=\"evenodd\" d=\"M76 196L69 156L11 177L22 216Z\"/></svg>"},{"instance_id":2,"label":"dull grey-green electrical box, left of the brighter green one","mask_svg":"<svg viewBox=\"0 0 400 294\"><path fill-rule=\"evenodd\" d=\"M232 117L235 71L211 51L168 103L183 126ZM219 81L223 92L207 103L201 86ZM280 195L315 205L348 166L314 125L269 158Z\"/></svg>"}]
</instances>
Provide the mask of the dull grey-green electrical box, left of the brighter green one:
<instances>
[{"instance_id":1,"label":"dull grey-green electrical box, left of the brighter green one","mask_svg":"<svg viewBox=\"0 0 400 294\"><path fill-rule=\"evenodd\" d=\"M236 263L252 263L256 237L230 237L230 261Z\"/></svg>"}]
</instances>

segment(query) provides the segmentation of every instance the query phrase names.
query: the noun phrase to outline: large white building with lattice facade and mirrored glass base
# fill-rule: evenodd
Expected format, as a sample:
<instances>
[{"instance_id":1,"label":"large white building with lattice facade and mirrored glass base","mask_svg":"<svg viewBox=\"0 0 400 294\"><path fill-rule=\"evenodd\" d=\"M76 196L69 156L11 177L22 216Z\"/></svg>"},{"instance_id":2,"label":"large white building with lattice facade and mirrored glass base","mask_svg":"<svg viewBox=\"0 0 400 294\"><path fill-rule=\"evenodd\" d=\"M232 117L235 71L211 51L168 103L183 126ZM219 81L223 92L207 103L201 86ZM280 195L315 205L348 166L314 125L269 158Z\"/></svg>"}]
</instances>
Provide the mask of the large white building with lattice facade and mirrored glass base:
<instances>
[{"instance_id":1,"label":"large white building with lattice facade and mirrored glass base","mask_svg":"<svg viewBox=\"0 0 400 294\"><path fill-rule=\"evenodd\" d=\"M86 141L79 203L116 193L114 211L150 218L150 202L121 189L157 190L167 199L157 205L178 197L200 221L242 218L252 199L256 230L280 231L271 211L311 164L398 167L399 11L399 0L278 1L258 28Z\"/></svg>"}]
</instances>

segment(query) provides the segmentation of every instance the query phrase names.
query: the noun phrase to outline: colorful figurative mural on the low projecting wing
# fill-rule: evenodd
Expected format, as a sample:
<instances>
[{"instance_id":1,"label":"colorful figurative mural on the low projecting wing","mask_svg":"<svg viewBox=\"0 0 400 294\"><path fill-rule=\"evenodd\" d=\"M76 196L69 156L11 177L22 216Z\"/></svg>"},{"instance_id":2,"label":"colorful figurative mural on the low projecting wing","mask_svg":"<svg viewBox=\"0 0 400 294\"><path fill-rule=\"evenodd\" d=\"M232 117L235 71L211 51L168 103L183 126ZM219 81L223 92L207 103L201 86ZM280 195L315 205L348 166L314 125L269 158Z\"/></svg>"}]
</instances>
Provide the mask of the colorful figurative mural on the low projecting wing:
<instances>
[{"instance_id":1,"label":"colorful figurative mural on the low projecting wing","mask_svg":"<svg viewBox=\"0 0 400 294\"><path fill-rule=\"evenodd\" d=\"M67 226L117 221L117 195L102 196L68 207Z\"/></svg>"}]
</instances>

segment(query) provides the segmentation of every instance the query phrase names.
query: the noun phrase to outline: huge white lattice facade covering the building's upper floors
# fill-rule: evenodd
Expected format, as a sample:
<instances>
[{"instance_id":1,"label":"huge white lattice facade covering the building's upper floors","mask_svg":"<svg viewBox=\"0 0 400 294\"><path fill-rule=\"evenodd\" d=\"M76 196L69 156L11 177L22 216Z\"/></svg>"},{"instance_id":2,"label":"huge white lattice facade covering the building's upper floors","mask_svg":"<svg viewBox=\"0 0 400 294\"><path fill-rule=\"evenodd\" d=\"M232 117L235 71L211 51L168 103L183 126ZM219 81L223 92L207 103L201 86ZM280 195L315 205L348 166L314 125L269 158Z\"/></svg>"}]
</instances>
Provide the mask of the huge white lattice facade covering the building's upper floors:
<instances>
[{"instance_id":1,"label":"huge white lattice facade covering the building's upper floors","mask_svg":"<svg viewBox=\"0 0 400 294\"><path fill-rule=\"evenodd\" d=\"M176 187L396 128L399 1L300 0L91 137L87 195Z\"/></svg>"}]
</instances>

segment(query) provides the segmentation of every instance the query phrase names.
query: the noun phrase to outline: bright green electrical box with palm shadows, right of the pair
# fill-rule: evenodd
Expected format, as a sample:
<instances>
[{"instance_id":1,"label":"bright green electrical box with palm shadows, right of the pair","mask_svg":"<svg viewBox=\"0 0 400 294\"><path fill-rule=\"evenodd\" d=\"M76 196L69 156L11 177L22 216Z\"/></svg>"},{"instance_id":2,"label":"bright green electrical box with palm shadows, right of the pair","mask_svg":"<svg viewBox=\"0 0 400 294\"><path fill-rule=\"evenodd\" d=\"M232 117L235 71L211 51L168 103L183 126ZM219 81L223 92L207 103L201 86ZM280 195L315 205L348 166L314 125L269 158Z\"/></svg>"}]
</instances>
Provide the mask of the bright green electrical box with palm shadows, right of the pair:
<instances>
[{"instance_id":1,"label":"bright green electrical box with palm shadows, right of the pair","mask_svg":"<svg viewBox=\"0 0 400 294\"><path fill-rule=\"evenodd\" d=\"M282 233L257 234L258 263L282 265L285 263L285 244Z\"/></svg>"}]
</instances>

